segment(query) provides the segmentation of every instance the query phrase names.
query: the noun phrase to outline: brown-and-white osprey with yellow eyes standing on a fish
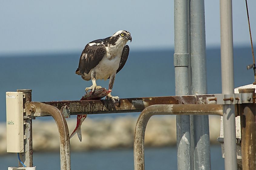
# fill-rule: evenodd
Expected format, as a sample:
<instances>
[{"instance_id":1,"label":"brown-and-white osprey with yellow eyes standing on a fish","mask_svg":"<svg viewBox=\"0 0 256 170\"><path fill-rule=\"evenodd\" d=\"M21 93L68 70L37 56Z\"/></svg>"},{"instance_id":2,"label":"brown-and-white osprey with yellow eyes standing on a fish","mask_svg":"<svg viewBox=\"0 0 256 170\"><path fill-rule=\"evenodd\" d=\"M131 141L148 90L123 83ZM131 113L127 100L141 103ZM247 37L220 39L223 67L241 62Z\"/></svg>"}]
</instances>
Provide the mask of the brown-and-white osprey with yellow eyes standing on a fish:
<instances>
[{"instance_id":1,"label":"brown-and-white osprey with yellow eyes standing on a fish","mask_svg":"<svg viewBox=\"0 0 256 170\"><path fill-rule=\"evenodd\" d=\"M131 34L120 30L111 37L91 41L85 46L75 73L86 81L92 81L92 86L85 88L86 92L91 90L93 93L95 89L101 88L96 85L98 79L110 79L108 90L112 90L115 75L124 67L128 58L128 40L131 40ZM114 102L119 101L119 97L112 96L111 92L106 97Z\"/></svg>"}]
</instances>

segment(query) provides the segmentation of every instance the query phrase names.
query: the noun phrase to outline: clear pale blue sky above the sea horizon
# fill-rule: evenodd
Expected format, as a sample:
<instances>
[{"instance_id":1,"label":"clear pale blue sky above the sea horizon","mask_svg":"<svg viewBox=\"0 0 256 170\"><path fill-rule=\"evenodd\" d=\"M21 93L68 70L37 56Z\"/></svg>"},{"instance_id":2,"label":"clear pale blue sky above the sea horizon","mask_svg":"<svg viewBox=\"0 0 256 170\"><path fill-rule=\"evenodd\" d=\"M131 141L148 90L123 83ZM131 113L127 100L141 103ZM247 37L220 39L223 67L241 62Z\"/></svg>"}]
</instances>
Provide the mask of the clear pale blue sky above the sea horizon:
<instances>
[{"instance_id":1,"label":"clear pale blue sky above the sea horizon","mask_svg":"<svg viewBox=\"0 0 256 170\"><path fill-rule=\"evenodd\" d=\"M0 2L0 55L82 51L95 39L128 30L130 49L174 48L173 1L14 1ZM248 0L256 39L256 1ZM205 1L206 46L220 46L219 1ZM234 46L250 47L245 1L233 1ZM255 43L256 44L256 43Z\"/></svg>"}]
</instances>

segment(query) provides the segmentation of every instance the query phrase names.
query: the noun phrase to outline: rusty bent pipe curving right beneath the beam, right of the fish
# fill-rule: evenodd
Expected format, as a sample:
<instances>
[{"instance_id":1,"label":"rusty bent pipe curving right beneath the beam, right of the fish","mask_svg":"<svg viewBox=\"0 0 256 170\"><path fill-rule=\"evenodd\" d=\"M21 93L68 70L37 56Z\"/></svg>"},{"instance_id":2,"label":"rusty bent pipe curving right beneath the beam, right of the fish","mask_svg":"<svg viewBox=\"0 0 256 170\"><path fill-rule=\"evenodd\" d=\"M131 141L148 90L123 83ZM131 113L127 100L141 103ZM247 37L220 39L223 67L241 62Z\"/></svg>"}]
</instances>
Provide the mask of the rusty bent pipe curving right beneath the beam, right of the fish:
<instances>
[{"instance_id":1,"label":"rusty bent pipe curving right beneath the beam, right of the fish","mask_svg":"<svg viewBox=\"0 0 256 170\"><path fill-rule=\"evenodd\" d=\"M144 139L148 120L153 115L219 115L222 116L223 106L220 104L156 104L145 108L137 121L134 139L134 169L144 170ZM187 162L184 162L187 164Z\"/></svg>"}]
</instances>

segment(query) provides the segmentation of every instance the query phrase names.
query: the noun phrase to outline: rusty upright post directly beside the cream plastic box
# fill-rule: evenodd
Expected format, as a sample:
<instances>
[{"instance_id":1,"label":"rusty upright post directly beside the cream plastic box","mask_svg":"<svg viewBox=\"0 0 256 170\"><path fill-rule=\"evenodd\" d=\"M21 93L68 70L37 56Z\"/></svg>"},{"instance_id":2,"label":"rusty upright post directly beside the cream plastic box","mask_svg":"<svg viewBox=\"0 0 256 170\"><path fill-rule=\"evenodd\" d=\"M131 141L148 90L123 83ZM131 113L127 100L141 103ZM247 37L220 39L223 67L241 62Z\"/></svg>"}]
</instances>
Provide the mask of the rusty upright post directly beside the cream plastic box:
<instances>
[{"instance_id":1,"label":"rusty upright post directly beside the cream plastic box","mask_svg":"<svg viewBox=\"0 0 256 170\"><path fill-rule=\"evenodd\" d=\"M25 102L31 101L32 90L22 89L22 90L17 90L17 92L23 92L23 94L25 94L25 98L23 99L23 105L25 104ZM25 106L23 106L23 108L25 108ZM24 163L24 165L26 165L27 167L33 167L32 120L31 119L25 119L24 135L26 137L26 139L24 140L24 152L19 153L20 159ZM19 163L19 167L23 167L20 162L18 163Z\"/></svg>"}]
</instances>

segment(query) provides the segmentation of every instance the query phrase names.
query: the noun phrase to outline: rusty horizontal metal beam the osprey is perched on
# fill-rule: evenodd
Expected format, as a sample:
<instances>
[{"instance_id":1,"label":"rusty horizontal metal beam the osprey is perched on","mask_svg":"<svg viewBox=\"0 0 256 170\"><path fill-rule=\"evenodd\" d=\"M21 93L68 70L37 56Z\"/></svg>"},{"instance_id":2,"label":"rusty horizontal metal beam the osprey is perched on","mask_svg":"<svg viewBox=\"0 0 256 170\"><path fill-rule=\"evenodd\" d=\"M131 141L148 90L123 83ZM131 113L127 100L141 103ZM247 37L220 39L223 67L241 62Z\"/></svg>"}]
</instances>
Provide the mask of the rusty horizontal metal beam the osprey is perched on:
<instances>
[{"instance_id":1,"label":"rusty horizontal metal beam the osprey is perched on","mask_svg":"<svg viewBox=\"0 0 256 170\"><path fill-rule=\"evenodd\" d=\"M188 95L188 96L166 96L148 98L120 99L117 105L110 100L85 100L85 101L50 101L42 102L57 107L62 113L69 111L70 115L77 114L107 114L141 112L153 104L208 104L209 99L215 95Z\"/></svg>"}]
</instances>

